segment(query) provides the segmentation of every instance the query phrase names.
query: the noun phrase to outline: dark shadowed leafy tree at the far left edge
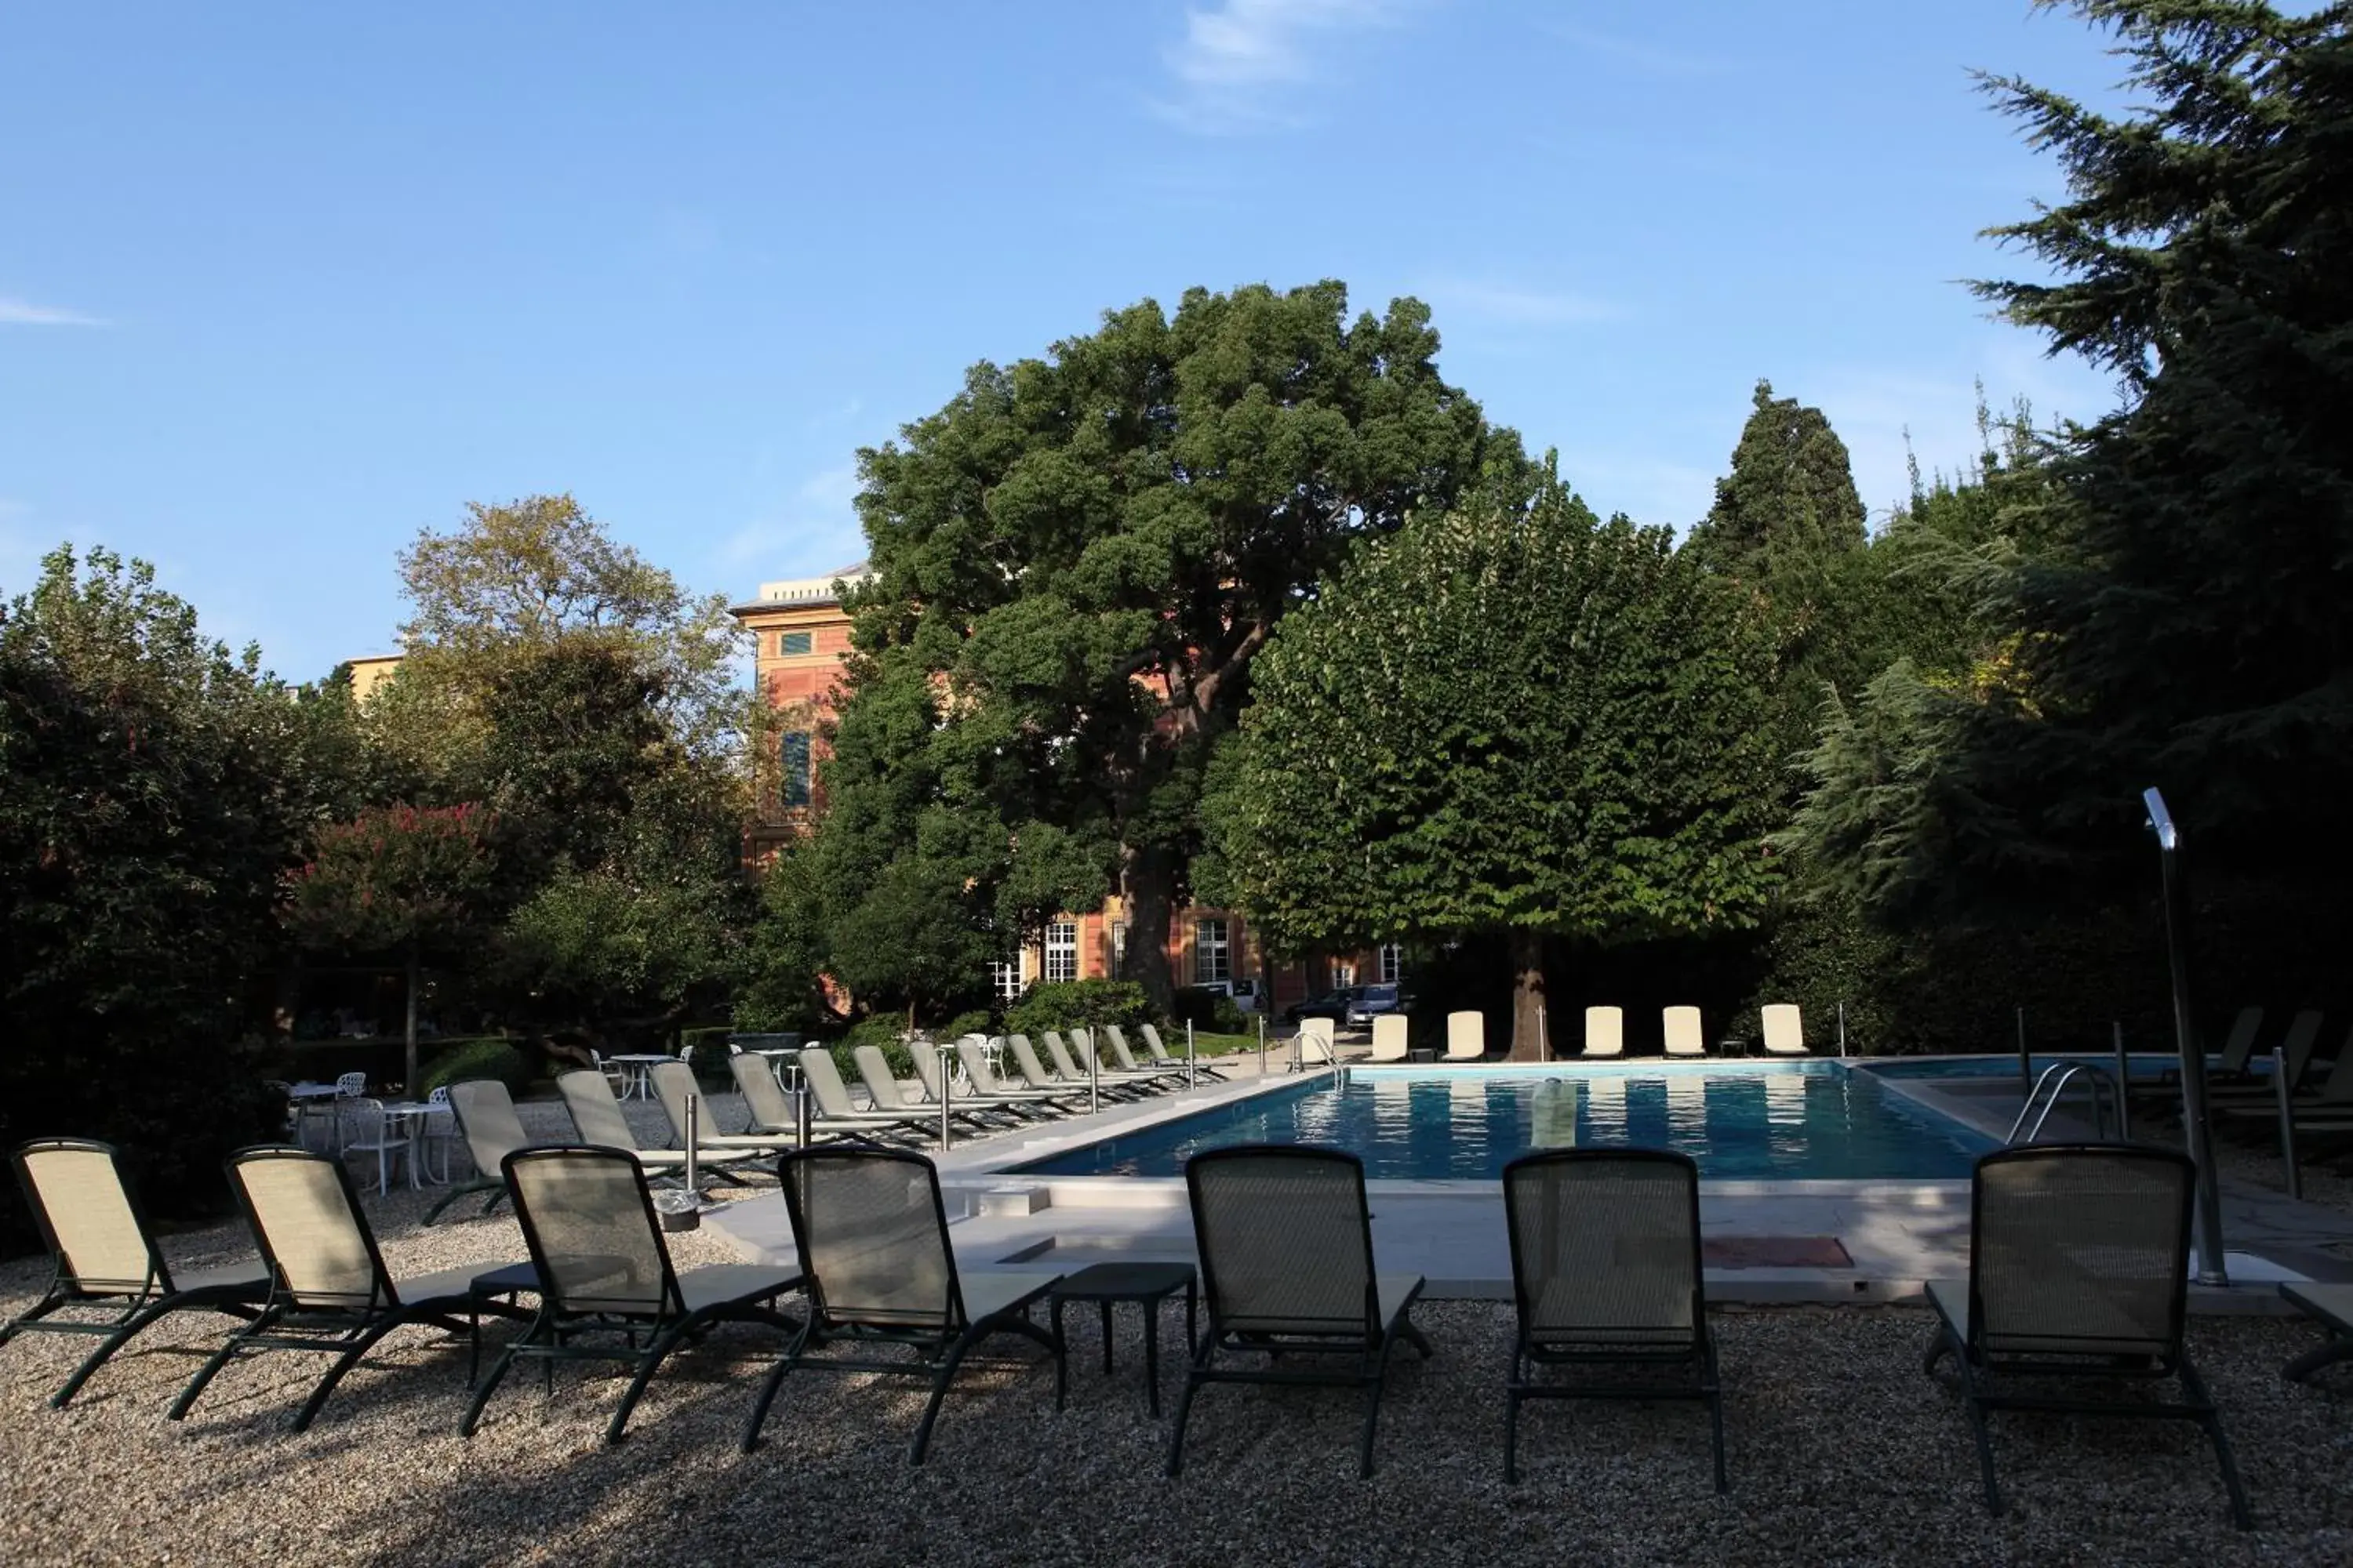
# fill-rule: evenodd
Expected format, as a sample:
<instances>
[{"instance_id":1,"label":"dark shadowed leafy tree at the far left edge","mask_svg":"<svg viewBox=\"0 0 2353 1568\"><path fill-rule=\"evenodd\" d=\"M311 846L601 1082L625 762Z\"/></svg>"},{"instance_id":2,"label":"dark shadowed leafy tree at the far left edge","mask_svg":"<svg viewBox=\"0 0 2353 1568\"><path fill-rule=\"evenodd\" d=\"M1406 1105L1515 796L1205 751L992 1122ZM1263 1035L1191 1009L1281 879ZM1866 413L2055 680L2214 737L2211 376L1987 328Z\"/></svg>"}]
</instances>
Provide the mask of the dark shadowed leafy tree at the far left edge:
<instances>
[{"instance_id":1,"label":"dark shadowed leafy tree at the far left edge","mask_svg":"<svg viewBox=\"0 0 2353 1568\"><path fill-rule=\"evenodd\" d=\"M271 1126L240 1039L280 877L353 809L348 743L348 703L294 701L141 562L56 550L0 607L0 1145L111 1138L169 1208L219 1197Z\"/></svg>"}]
</instances>

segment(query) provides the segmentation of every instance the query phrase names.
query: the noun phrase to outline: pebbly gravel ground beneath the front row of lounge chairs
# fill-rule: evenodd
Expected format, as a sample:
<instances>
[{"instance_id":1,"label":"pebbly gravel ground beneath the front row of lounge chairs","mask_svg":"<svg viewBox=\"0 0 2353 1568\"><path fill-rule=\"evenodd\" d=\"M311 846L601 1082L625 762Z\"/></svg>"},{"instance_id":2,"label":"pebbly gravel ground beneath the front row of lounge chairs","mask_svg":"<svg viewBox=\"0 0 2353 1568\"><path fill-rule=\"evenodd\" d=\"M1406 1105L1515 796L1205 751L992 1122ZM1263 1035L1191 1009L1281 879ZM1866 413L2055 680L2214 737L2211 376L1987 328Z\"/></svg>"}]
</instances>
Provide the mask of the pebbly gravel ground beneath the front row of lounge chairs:
<instances>
[{"instance_id":1,"label":"pebbly gravel ground beneath the front row of lounge chairs","mask_svg":"<svg viewBox=\"0 0 2353 1568\"><path fill-rule=\"evenodd\" d=\"M419 1229L431 1197L369 1199L395 1272L522 1255L504 1215ZM219 1227L169 1251L221 1260L235 1241ZM727 1260L711 1232L678 1237L675 1255ZM0 1314L42 1276L38 1262L0 1267ZM1708 1483L1706 1418L1687 1403L1537 1406L1513 1488L1508 1309L1431 1302L1419 1321L1438 1359L1400 1359L1369 1486L1355 1479L1353 1396L1249 1387L1202 1394L1186 1474L1162 1481L1167 1422L1144 1410L1132 1307L1113 1380L1092 1314L1071 1314L1064 1413L1049 1366L1000 1342L1009 1359L948 1396L920 1472L906 1467L920 1385L866 1375L795 1378L767 1446L739 1455L779 1345L746 1326L678 1356L614 1450L602 1425L621 1385L605 1368L560 1371L553 1399L515 1380L482 1432L459 1439L464 1349L428 1328L386 1340L304 1436L285 1420L318 1356L242 1361L186 1425L162 1420L226 1319L162 1324L64 1413L42 1401L80 1347L28 1338L0 1352L0 1561L2353 1561L2353 1378L2280 1382L2313 1342L2304 1324L2195 1326L2261 1523L2240 1535L2198 1434L2151 1422L1998 1418L2012 1514L1988 1519L1960 1406L1918 1371L1915 1309L1720 1314L1725 1500ZM1162 1345L1179 1338L1172 1305Z\"/></svg>"}]
</instances>

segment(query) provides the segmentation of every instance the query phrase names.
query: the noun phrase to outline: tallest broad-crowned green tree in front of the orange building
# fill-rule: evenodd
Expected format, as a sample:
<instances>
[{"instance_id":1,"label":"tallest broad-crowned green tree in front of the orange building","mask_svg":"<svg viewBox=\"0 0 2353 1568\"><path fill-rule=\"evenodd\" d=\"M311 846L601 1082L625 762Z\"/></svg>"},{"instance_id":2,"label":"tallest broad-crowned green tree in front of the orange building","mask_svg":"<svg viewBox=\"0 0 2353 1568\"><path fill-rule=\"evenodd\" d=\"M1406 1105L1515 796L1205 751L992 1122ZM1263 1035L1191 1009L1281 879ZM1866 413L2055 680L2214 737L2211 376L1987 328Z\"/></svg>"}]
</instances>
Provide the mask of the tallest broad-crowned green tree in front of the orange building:
<instances>
[{"instance_id":1,"label":"tallest broad-crowned green tree in front of the orange building","mask_svg":"<svg viewBox=\"0 0 2353 1568\"><path fill-rule=\"evenodd\" d=\"M1409 299L1351 324L1339 282L1193 289L1174 317L1146 301L1045 360L979 364L859 454L873 578L849 599L840 733L868 701L936 703L915 750L929 804L986 823L988 844L951 835L981 905L1000 907L991 879L1047 910L1120 891L1127 973L1169 999L1200 769L1268 632L1360 538L1529 484L1518 437L1435 355ZM828 813L856 788L828 769ZM936 832L936 813L896 820L892 853Z\"/></svg>"}]
</instances>

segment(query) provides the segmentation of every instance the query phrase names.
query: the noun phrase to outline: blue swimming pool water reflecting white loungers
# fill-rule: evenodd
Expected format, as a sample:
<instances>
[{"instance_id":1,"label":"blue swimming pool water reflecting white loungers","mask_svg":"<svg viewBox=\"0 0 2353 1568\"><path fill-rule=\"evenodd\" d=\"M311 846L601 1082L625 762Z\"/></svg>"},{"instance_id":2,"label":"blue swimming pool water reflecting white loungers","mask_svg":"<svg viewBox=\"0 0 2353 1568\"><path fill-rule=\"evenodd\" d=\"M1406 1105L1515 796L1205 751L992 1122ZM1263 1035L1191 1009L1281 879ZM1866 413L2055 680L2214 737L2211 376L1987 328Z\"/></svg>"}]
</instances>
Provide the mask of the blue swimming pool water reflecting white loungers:
<instances>
[{"instance_id":1,"label":"blue swimming pool water reflecting white loungers","mask_svg":"<svg viewBox=\"0 0 2353 1568\"><path fill-rule=\"evenodd\" d=\"M1358 1067L1019 1166L1026 1175L1184 1175L1200 1150L1311 1143L1372 1180L1497 1180L1541 1147L1668 1147L1711 1180L1965 1180L1993 1147L1838 1063L1555 1070Z\"/></svg>"}]
</instances>

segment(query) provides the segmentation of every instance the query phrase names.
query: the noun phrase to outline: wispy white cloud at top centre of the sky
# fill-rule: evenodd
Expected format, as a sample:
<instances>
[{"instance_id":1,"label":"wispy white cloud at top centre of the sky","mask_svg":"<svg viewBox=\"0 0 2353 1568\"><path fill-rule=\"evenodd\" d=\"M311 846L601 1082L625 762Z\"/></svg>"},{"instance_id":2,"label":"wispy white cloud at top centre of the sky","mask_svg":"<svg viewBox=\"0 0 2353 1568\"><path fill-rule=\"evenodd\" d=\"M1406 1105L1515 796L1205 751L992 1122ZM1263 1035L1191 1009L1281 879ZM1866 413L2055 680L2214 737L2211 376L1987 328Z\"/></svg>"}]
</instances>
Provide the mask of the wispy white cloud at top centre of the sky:
<instances>
[{"instance_id":1,"label":"wispy white cloud at top centre of the sky","mask_svg":"<svg viewBox=\"0 0 2353 1568\"><path fill-rule=\"evenodd\" d=\"M1153 103L1200 134L1299 125L1297 89L1329 75L1329 52L1351 35L1393 26L1424 0L1221 0L1186 9L1184 40L1165 52L1179 96Z\"/></svg>"}]
</instances>

